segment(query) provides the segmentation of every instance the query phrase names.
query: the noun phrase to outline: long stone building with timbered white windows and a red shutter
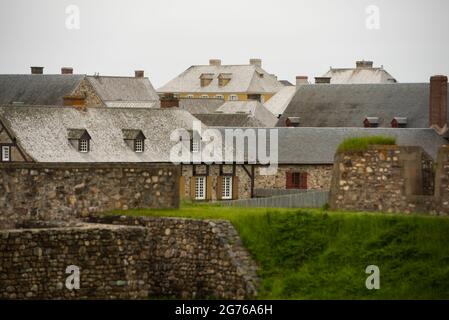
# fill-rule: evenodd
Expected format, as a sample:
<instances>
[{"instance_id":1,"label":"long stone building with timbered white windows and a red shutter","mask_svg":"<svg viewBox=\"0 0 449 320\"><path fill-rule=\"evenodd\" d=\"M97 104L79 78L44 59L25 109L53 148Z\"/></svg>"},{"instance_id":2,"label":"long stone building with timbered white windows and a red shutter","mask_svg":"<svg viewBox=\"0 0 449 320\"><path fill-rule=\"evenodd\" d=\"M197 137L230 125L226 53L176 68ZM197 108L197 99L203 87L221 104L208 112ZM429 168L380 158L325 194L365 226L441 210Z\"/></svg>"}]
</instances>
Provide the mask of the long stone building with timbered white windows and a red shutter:
<instances>
[{"instance_id":1,"label":"long stone building with timbered white windows and a red shutter","mask_svg":"<svg viewBox=\"0 0 449 320\"><path fill-rule=\"evenodd\" d=\"M244 145L244 161L225 164L198 161L182 164L181 197L197 201L235 200L256 197L264 190L329 190L335 152L349 137L391 136L403 146L421 146L433 159L438 148L446 143L434 129L364 129L364 128L218 128L223 149L226 130L253 130L266 134L266 144ZM271 147L270 130L277 132L277 152L272 159L277 169L266 175L267 164L262 165L259 155L249 160L259 145ZM236 131L234 131L235 133ZM209 142L210 143L210 142ZM232 145L237 149L237 143ZM222 151L225 154L225 151ZM235 150L233 150L235 153Z\"/></svg>"}]
</instances>

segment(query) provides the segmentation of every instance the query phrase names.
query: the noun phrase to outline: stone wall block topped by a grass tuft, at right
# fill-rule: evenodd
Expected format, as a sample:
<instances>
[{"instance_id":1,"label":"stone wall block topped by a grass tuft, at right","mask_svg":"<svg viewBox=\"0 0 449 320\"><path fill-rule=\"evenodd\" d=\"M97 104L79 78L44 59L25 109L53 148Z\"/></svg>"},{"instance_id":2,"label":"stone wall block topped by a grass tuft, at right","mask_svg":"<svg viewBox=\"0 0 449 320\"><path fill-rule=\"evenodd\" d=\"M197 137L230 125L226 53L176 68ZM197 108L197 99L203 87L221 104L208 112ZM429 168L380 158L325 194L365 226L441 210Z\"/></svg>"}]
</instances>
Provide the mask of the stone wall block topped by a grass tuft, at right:
<instances>
[{"instance_id":1,"label":"stone wall block topped by a grass tuft, at right","mask_svg":"<svg viewBox=\"0 0 449 320\"><path fill-rule=\"evenodd\" d=\"M337 154L330 206L353 211L433 212L433 183L425 183L426 177L433 177L432 171L433 163L420 147L372 146L366 152Z\"/></svg>"}]
</instances>

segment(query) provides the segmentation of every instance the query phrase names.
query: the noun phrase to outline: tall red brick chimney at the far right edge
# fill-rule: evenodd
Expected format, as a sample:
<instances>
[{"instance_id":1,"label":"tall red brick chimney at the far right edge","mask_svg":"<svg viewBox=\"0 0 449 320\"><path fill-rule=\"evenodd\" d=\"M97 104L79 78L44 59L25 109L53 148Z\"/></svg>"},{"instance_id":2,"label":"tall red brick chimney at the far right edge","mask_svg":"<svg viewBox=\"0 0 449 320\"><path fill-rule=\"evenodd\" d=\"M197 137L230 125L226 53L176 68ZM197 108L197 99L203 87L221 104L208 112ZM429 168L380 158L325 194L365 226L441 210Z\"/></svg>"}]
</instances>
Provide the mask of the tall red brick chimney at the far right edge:
<instances>
[{"instance_id":1,"label":"tall red brick chimney at the far right edge","mask_svg":"<svg viewBox=\"0 0 449 320\"><path fill-rule=\"evenodd\" d=\"M430 78L429 126L443 131L447 129L447 77Z\"/></svg>"}]
</instances>

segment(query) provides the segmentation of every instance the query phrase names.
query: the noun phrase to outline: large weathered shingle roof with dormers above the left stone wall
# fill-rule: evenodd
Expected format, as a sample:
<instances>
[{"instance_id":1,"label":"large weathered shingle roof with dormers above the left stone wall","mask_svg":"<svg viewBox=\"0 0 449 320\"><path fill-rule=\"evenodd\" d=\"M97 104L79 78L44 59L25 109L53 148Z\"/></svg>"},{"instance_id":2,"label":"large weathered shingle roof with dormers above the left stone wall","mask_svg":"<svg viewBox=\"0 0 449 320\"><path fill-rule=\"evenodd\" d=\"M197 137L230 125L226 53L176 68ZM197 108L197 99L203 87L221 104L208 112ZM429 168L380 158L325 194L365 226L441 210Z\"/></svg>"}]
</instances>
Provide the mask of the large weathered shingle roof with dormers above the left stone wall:
<instances>
[{"instance_id":1,"label":"large weathered shingle roof with dormers above the left stone wall","mask_svg":"<svg viewBox=\"0 0 449 320\"><path fill-rule=\"evenodd\" d=\"M0 120L22 149L37 162L169 162L175 142L170 134L191 129L196 120L179 109L122 109L92 107L1 106ZM68 129L85 129L90 152L69 143ZM123 129L142 130L145 151L135 153L124 141Z\"/></svg>"}]
</instances>

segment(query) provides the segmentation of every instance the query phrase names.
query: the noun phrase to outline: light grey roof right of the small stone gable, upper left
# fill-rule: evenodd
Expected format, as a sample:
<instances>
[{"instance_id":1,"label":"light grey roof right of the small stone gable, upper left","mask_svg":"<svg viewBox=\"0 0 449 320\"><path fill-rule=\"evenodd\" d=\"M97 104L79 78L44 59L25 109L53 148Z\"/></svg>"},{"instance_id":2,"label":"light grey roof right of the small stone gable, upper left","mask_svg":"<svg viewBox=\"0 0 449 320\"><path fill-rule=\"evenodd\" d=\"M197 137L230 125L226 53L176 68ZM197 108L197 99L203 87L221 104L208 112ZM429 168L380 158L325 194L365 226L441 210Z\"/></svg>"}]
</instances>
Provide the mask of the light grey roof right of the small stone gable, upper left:
<instances>
[{"instance_id":1,"label":"light grey roof right of the small stone gable, upper left","mask_svg":"<svg viewBox=\"0 0 449 320\"><path fill-rule=\"evenodd\" d=\"M103 101L155 101L159 96L148 78L88 76Z\"/></svg>"}]
</instances>

